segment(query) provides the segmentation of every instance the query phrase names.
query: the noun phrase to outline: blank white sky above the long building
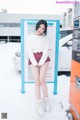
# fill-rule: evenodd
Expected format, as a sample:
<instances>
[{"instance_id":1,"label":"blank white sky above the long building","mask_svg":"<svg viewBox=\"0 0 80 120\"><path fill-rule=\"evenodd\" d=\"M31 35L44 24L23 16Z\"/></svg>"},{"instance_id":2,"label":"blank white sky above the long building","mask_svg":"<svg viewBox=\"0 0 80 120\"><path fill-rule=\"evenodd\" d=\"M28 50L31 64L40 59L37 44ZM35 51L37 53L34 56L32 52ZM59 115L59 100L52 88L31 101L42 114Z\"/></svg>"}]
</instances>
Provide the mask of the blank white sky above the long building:
<instances>
[{"instance_id":1,"label":"blank white sky above the long building","mask_svg":"<svg viewBox=\"0 0 80 120\"><path fill-rule=\"evenodd\" d=\"M64 3L64 0L0 0L0 11L4 8L8 13L62 14L73 6L72 2L67 2Z\"/></svg>"}]
</instances>

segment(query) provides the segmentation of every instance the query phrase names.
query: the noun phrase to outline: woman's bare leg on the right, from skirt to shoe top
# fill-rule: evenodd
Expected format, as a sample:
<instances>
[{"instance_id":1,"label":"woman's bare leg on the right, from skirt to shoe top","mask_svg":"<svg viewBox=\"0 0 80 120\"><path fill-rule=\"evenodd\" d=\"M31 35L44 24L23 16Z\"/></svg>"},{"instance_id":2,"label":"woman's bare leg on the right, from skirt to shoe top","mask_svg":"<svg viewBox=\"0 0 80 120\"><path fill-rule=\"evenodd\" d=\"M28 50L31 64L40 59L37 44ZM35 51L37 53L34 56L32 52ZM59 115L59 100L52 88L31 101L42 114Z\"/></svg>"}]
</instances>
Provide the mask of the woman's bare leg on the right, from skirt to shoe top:
<instances>
[{"instance_id":1,"label":"woman's bare leg on the right, from skirt to shoe top","mask_svg":"<svg viewBox=\"0 0 80 120\"><path fill-rule=\"evenodd\" d=\"M44 94L44 97L48 97L48 89L46 85L46 80L45 80L45 75L47 72L49 62L46 62L44 65L40 67L40 83L41 83L41 88Z\"/></svg>"}]
</instances>

